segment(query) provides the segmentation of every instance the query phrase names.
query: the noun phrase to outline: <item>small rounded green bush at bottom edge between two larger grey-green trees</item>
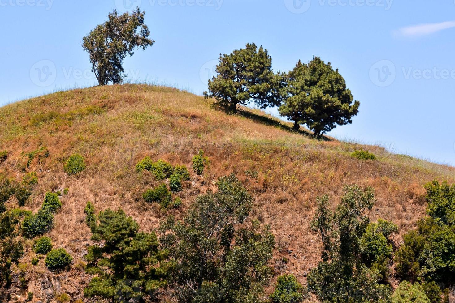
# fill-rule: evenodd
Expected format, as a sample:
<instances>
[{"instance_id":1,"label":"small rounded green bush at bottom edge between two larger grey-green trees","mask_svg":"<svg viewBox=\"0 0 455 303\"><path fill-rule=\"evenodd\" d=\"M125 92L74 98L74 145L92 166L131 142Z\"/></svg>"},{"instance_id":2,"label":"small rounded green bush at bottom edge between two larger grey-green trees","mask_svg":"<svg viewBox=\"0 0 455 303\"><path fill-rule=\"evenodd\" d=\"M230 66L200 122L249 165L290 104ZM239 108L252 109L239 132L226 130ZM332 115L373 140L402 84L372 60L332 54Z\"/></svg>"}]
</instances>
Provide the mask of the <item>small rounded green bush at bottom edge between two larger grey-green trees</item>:
<instances>
[{"instance_id":1,"label":"small rounded green bush at bottom edge between two larger grey-green trees","mask_svg":"<svg viewBox=\"0 0 455 303\"><path fill-rule=\"evenodd\" d=\"M292 274L278 277L275 291L270 295L273 303L298 303L303 301L303 286Z\"/></svg>"}]
</instances>

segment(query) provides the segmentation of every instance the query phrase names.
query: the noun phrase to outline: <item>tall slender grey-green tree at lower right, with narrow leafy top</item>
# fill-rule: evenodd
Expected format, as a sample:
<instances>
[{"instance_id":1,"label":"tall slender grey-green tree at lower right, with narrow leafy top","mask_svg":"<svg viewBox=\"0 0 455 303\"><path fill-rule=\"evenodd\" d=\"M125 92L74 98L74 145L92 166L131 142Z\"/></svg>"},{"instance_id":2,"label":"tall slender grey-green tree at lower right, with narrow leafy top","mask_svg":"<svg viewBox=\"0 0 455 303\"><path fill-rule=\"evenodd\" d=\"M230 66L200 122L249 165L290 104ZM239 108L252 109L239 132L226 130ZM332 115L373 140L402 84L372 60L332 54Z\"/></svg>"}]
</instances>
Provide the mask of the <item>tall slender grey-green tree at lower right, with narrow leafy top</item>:
<instances>
[{"instance_id":1,"label":"tall slender grey-green tree at lower right, with narrow leafy top","mask_svg":"<svg viewBox=\"0 0 455 303\"><path fill-rule=\"evenodd\" d=\"M344 188L344 196L334 212L329 209L327 195L318 198L311 228L320 233L323 262L308 273L307 279L308 290L321 302L389 301L390 287L379 283L383 274L362 262L363 247L376 253L374 245L365 244L375 243L370 238L376 240L377 229L382 230L379 226L383 226L387 236L393 229L386 221L369 224L365 213L373 207L373 201L373 189L362 190L356 185ZM364 238L368 229L370 232ZM380 235L386 238L383 233Z\"/></svg>"}]
</instances>

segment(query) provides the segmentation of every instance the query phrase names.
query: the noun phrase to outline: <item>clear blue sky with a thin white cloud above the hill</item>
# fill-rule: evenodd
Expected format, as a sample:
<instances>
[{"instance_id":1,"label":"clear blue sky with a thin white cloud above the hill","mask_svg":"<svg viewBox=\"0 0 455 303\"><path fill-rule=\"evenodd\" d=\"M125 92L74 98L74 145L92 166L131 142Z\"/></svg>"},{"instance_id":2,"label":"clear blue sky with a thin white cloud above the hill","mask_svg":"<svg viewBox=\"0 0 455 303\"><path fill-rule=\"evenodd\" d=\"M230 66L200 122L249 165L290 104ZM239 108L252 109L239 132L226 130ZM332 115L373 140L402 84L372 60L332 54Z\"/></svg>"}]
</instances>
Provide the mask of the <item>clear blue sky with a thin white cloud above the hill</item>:
<instances>
[{"instance_id":1,"label":"clear blue sky with a thin white cloud above the hill","mask_svg":"<svg viewBox=\"0 0 455 303\"><path fill-rule=\"evenodd\" d=\"M455 165L453 0L0 0L0 105L94 85L82 37L137 5L156 43L125 60L129 78L201 94L248 42L276 71L320 56L361 103L330 135Z\"/></svg>"}]
</instances>

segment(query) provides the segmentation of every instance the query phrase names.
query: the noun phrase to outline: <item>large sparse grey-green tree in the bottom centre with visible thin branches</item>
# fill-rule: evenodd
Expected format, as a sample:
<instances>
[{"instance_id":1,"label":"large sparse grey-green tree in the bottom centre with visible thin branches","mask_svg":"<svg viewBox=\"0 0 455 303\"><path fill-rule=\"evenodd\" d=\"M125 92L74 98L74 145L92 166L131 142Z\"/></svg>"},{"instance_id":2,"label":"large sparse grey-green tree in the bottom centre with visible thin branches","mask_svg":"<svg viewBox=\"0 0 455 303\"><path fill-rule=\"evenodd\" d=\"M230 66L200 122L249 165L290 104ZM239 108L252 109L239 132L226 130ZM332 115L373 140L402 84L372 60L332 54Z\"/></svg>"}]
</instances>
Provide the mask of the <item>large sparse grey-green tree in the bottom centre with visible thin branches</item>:
<instances>
[{"instance_id":1,"label":"large sparse grey-green tree in the bottom centre with visible thin branches","mask_svg":"<svg viewBox=\"0 0 455 303\"><path fill-rule=\"evenodd\" d=\"M177 261L170 275L180 302L258 302L271 277L274 237L247 218L252 198L231 174L217 181L216 193L197 197L183 221L169 217L160 242Z\"/></svg>"}]
</instances>

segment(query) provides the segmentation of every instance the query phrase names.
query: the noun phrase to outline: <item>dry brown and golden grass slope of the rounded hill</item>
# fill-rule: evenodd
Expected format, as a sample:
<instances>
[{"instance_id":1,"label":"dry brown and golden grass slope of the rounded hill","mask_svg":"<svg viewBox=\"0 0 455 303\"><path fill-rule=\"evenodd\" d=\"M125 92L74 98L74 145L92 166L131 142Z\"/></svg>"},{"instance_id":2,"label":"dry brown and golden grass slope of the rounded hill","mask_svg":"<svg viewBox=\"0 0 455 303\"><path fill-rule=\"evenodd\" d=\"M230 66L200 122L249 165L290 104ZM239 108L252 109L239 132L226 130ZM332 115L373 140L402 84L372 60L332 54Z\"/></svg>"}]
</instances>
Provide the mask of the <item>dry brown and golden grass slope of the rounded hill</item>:
<instances>
[{"instance_id":1,"label":"dry brown and golden grass slope of the rounded hill","mask_svg":"<svg viewBox=\"0 0 455 303\"><path fill-rule=\"evenodd\" d=\"M289 260L273 264L275 270L292 272L306 283L304 273L319 262L321 252L320 239L309 228L318 195L329 194L335 206L345 184L372 186L376 203L370 216L398 224L400 234L394 238L398 244L425 214L423 184L433 179L455 182L451 167L375 146L317 141L290 132L287 124L260 111L227 115L212 109L210 100L159 86L113 85L28 99L0 108L0 129L0 150L8 151L0 173L19 180L35 171L39 177L24 209L39 209L47 191L69 189L61 197L63 206L49 237L55 247L71 253L75 265L59 275L42 262L30 266L27 291L43 302L46 296L65 292L73 299L81 297L88 282L77 264L92 243L84 214L89 200L97 211L121 207L150 231L167 214L181 217L197 194L214 189L218 177L234 172L255 199L250 219L270 224L278 243L276 258ZM48 157L29 156L43 147L49 150ZM352 158L359 148L377 159ZM150 156L190 168L199 149L209 157L210 167L202 177L191 172L191 181L179 194L183 207L163 212L142 200L142 193L159 182L149 174L137 174L138 161ZM87 168L68 176L64 161L73 153L84 156ZM10 199L7 207L17 207L17 202ZM28 241L22 263L30 264L34 256L30 246ZM47 289L52 289L51 297Z\"/></svg>"}]
</instances>

